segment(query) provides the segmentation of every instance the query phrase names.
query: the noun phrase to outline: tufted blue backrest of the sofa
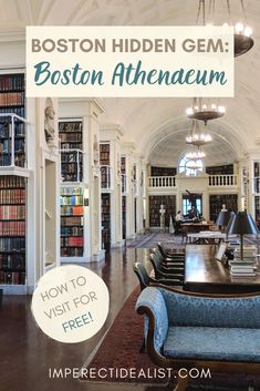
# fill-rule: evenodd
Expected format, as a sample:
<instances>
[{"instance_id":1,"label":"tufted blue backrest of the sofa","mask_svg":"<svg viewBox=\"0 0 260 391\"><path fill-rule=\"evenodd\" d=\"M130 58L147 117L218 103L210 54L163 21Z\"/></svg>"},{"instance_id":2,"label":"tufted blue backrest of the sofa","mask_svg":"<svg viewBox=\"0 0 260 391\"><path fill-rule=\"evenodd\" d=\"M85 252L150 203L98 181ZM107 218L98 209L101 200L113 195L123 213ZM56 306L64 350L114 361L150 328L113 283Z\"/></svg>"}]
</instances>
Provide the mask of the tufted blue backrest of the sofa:
<instances>
[{"instance_id":1,"label":"tufted blue backrest of the sofa","mask_svg":"<svg viewBox=\"0 0 260 391\"><path fill-rule=\"evenodd\" d=\"M170 326L260 328L260 296L210 298L159 289Z\"/></svg>"}]
</instances>

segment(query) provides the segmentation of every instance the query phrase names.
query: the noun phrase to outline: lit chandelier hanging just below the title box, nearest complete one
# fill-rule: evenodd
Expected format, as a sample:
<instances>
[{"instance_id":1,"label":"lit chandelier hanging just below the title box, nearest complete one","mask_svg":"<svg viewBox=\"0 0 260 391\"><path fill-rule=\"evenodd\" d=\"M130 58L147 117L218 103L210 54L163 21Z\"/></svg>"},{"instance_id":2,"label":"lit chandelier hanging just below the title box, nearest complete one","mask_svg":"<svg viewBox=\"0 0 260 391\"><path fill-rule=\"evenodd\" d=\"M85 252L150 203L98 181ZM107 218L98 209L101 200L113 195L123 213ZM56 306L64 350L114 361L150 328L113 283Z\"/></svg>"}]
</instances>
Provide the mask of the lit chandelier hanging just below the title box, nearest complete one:
<instances>
[{"instance_id":1,"label":"lit chandelier hanging just below the title box, nearest complete one","mask_svg":"<svg viewBox=\"0 0 260 391\"><path fill-rule=\"evenodd\" d=\"M206 97L194 97L193 105L186 109L188 119L204 121L205 125L207 125L207 122L210 120L220 119L225 113L225 106Z\"/></svg>"}]
</instances>

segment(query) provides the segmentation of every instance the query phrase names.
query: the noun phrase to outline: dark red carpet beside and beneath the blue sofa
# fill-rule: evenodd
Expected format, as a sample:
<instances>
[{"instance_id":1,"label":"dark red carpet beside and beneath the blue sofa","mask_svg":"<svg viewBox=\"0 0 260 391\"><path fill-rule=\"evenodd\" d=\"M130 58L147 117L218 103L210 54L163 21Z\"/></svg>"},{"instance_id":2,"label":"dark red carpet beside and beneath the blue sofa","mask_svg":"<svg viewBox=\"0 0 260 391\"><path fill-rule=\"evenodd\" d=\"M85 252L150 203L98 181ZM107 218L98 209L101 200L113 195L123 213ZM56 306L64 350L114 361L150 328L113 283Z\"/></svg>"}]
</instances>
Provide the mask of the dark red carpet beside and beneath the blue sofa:
<instances>
[{"instance_id":1,"label":"dark red carpet beside and beneath the blue sofa","mask_svg":"<svg viewBox=\"0 0 260 391\"><path fill-rule=\"evenodd\" d=\"M93 381L106 382L110 383L131 383L133 385L146 384L147 390L149 385L156 385L155 390L157 391L168 391L173 390L175 380L169 379L158 379L154 377L154 372L158 367L155 367L149 360L146 353L139 353L139 348L143 342L143 317L136 315L135 312L135 302L139 294L139 288L136 288L133 294L125 301L123 308L118 312L114 323L111 329L107 331L100 347L96 351L91 354L91 359L85 363L84 368L110 368L115 371L115 369L135 369L138 373L144 371L149 373L149 379L131 378L129 375L124 379L118 379L115 372L110 379L82 379L82 381ZM225 366L223 366L225 369ZM170 385L167 385L167 383ZM258 377L248 377L245 373L233 373L225 374L212 373L211 379L207 380L193 380L190 387L187 391L196 390L208 390L208 391L246 391L248 390L249 384L254 384L254 391L260 390L260 375ZM159 387L162 385L162 387ZM153 388L152 388L153 390Z\"/></svg>"}]
</instances>

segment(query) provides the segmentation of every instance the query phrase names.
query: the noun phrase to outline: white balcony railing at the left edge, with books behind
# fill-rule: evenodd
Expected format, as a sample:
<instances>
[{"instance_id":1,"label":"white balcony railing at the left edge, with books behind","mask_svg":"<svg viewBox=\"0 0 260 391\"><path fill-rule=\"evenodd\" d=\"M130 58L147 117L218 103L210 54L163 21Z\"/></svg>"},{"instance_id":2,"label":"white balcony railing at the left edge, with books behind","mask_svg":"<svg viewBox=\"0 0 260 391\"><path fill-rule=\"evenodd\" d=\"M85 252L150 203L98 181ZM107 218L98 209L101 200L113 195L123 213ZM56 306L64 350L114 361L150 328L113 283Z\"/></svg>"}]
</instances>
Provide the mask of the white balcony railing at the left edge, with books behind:
<instances>
[{"instance_id":1,"label":"white balcony railing at the left edge, with books behind","mask_svg":"<svg viewBox=\"0 0 260 391\"><path fill-rule=\"evenodd\" d=\"M0 166L27 168L27 120L0 113Z\"/></svg>"}]
</instances>

